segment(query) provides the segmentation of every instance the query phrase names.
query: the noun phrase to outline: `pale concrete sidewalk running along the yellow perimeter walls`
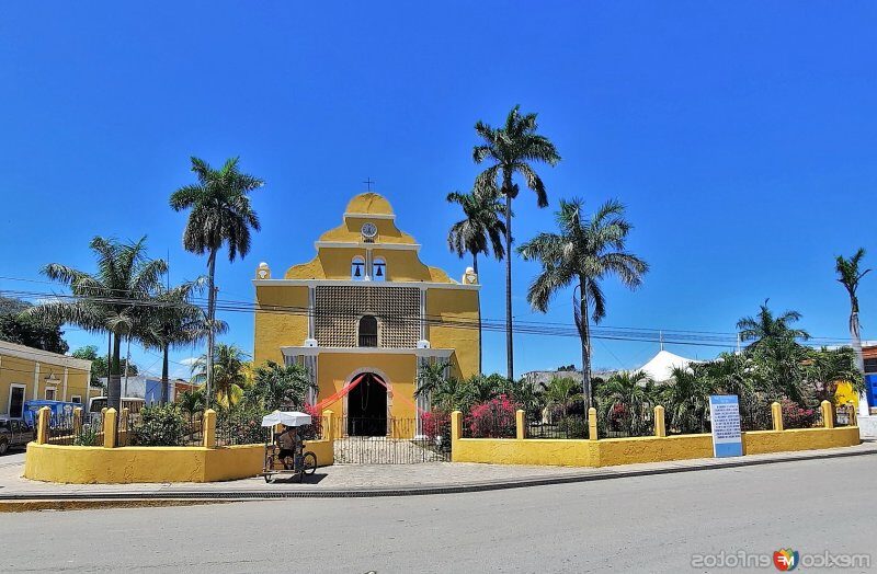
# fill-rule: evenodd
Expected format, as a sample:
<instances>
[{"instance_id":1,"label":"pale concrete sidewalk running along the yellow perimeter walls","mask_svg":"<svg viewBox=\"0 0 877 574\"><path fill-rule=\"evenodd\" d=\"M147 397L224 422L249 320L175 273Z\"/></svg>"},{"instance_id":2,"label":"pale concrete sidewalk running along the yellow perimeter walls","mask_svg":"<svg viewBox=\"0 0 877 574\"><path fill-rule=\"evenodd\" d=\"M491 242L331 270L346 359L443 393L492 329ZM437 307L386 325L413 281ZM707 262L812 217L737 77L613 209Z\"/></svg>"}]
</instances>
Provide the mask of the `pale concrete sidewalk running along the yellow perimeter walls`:
<instances>
[{"instance_id":1,"label":"pale concrete sidewalk running along the yellow perimeter walls","mask_svg":"<svg viewBox=\"0 0 877 574\"><path fill-rule=\"evenodd\" d=\"M466 462L419 464L339 464L318 469L304 484L262 478L215 483L174 484L56 484L22 478L23 455L0 458L0 502L10 501L148 501L259 500L278 497L367 497L449 494L544 484L691 472L795 460L877 455L877 443L855 447L751 455L726 459L626 464L604 468L527 467Z\"/></svg>"}]
</instances>

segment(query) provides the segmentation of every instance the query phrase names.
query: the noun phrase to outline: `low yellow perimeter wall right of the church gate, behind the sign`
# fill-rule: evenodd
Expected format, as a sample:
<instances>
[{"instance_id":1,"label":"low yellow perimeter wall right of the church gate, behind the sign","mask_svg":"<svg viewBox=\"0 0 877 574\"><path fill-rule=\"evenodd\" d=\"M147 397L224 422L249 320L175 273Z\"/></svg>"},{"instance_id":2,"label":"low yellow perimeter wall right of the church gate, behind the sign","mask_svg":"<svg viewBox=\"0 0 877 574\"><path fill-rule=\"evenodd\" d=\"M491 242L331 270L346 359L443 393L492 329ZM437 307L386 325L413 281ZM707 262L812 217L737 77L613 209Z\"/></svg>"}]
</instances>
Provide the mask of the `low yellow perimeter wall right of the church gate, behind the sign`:
<instances>
[{"instance_id":1,"label":"low yellow perimeter wall right of the church gate, behind the sign","mask_svg":"<svg viewBox=\"0 0 877 574\"><path fill-rule=\"evenodd\" d=\"M847 447L859 444L858 427L743 433L743 454ZM601 440L456 438L454 462L613 467L713 457L711 435L608 438Z\"/></svg>"}]
</instances>

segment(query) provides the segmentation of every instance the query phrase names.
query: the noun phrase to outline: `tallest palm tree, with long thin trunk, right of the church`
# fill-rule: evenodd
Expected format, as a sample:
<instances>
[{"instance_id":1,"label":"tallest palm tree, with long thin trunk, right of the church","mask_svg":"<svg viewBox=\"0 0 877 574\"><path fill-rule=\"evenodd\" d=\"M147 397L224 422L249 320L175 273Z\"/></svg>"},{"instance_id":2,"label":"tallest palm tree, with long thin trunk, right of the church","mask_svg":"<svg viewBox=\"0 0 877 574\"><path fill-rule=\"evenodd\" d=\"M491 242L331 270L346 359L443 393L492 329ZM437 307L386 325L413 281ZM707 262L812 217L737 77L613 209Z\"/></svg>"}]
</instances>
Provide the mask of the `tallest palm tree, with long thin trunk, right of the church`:
<instances>
[{"instance_id":1,"label":"tallest palm tree, with long thin trunk, right of the church","mask_svg":"<svg viewBox=\"0 0 877 574\"><path fill-rule=\"evenodd\" d=\"M476 163L486 160L491 165L478 174L476 187L486 190L494 197L505 197L505 252L512 251L512 199L517 196L514 176L524 179L528 188L536 193L536 204L548 206L545 184L533 169L533 163L547 163L551 167L560 161L555 145L536 134L536 114L521 115L521 106L509 112L503 127L493 128L482 122L475 125L475 131L483 144L475 146L472 159ZM498 184L499 182L499 184ZM514 380L514 349L512 346L512 257L505 257L505 358L506 377Z\"/></svg>"}]
</instances>

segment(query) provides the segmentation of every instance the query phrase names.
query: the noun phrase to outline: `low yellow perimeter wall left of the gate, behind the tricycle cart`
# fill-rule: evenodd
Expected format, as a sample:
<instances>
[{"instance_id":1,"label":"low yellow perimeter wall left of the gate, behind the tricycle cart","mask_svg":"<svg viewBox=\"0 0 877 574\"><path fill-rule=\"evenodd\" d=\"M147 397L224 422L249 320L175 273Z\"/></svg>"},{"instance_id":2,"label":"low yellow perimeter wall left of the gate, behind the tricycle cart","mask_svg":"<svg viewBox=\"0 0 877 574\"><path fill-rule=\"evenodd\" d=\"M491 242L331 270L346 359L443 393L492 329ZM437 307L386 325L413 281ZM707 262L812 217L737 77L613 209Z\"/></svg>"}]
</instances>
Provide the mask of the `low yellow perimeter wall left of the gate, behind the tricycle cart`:
<instances>
[{"instance_id":1,"label":"low yellow perimeter wall left of the gate, behind the tricycle cart","mask_svg":"<svg viewBox=\"0 0 877 574\"><path fill-rule=\"evenodd\" d=\"M310 440L317 464L334 462L331 440ZM72 447L27 445L24 478L69 484L218 482L262 472L264 445L204 447Z\"/></svg>"}]
</instances>

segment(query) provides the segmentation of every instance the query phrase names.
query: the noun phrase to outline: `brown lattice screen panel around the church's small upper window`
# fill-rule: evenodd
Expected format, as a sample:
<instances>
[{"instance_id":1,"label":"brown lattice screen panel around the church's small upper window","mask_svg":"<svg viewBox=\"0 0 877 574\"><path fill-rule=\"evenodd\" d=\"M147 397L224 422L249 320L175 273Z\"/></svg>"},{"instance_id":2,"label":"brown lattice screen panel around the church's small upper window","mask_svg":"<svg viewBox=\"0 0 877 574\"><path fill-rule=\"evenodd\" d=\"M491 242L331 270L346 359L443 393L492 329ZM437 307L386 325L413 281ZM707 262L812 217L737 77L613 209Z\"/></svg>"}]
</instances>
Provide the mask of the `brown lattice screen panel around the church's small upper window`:
<instances>
[{"instance_id":1,"label":"brown lattice screen panel around the church's small upper window","mask_svg":"<svg viewBox=\"0 0 877 574\"><path fill-rule=\"evenodd\" d=\"M323 347L355 347L356 322L378 320L378 346L413 348L420 338L420 289L368 285L318 286L315 331Z\"/></svg>"}]
</instances>

